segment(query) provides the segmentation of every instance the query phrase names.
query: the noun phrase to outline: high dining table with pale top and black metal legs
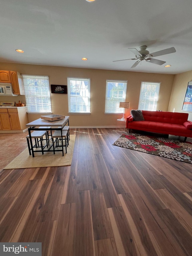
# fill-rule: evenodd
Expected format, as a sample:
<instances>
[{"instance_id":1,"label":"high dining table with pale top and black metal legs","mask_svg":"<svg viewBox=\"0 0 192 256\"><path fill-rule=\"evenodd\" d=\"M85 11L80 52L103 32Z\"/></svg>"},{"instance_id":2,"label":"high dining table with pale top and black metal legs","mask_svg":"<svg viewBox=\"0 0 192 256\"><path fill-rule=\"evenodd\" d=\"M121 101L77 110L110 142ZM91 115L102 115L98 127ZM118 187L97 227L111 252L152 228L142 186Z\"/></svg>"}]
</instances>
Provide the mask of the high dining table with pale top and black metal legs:
<instances>
[{"instance_id":1,"label":"high dining table with pale top and black metal legs","mask_svg":"<svg viewBox=\"0 0 192 256\"><path fill-rule=\"evenodd\" d=\"M32 143L32 137L31 137L31 133L32 131L50 131L51 136L52 136L52 131L61 131L61 138L62 138L62 129L64 128L65 125L69 126L69 116L65 116L64 119L59 119L59 120L55 120L55 121L48 121L48 120L44 120L44 119L37 119L34 120L28 124L26 124L26 127L28 128L29 131L29 141L31 144L31 151L32 151L32 156L34 157L34 149L33 149L33 143ZM40 128L41 127L41 128ZM48 151L61 151L61 150L53 150L52 149L52 144L49 145L49 147L47 149L43 149L44 152L48 152ZM62 148L63 151L63 148ZM35 150L35 152L42 152L42 150Z\"/></svg>"}]
</instances>

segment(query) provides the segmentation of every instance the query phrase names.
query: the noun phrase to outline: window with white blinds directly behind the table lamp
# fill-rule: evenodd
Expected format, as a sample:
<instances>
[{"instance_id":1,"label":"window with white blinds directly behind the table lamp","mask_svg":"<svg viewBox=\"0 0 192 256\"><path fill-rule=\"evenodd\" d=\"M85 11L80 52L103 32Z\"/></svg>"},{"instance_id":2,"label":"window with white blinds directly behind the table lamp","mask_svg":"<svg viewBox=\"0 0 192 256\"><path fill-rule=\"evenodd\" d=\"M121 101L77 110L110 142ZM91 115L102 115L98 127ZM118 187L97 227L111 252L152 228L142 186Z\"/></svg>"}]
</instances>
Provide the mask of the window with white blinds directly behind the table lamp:
<instances>
[{"instance_id":1,"label":"window with white blinds directly behind the table lamp","mask_svg":"<svg viewBox=\"0 0 192 256\"><path fill-rule=\"evenodd\" d=\"M119 102L125 101L126 92L127 81L107 80L105 114L123 113L123 108L119 108Z\"/></svg>"}]
</instances>

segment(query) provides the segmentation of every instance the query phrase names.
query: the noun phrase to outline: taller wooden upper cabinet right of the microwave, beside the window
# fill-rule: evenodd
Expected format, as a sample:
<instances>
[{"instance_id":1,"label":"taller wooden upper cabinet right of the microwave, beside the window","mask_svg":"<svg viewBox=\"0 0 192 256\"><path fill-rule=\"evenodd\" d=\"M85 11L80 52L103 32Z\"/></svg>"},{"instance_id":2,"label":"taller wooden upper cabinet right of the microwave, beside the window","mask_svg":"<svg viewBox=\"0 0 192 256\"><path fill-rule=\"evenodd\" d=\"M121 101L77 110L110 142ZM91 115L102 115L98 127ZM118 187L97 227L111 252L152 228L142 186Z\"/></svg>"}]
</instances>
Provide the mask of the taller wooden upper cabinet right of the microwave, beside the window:
<instances>
[{"instance_id":1,"label":"taller wooden upper cabinet right of the microwave, beside the window","mask_svg":"<svg viewBox=\"0 0 192 256\"><path fill-rule=\"evenodd\" d=\"M16 95L24 95L24 89L23 89L23 81L21 74L16 71L9 71L10 72L10 78L11 78L11 84L13 88L13 94Z\"/></svg>"}]
</instances>

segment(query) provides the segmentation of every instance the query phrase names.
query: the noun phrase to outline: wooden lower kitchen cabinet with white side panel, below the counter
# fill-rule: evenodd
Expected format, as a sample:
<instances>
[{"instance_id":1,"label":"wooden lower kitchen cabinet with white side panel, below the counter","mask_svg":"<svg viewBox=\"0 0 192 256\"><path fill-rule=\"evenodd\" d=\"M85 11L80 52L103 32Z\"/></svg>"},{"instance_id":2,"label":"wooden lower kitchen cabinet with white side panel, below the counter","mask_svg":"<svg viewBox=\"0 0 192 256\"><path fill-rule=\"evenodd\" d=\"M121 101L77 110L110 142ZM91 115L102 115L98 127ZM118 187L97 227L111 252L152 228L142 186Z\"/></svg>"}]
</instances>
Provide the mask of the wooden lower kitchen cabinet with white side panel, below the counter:
<instances>
[{"instance_id":1,"label":"wooden lower kitchen cabinet with white side panel, below the counter","mask_svg":"<svg viewBox=\"0 0 192 256\"><path fill-rule=\"evenodd\" d=\"M10 107L0 109L1 131L23 132L27 129L26 124L28 122L26 107Z\"/></svg>"}]
</instances>

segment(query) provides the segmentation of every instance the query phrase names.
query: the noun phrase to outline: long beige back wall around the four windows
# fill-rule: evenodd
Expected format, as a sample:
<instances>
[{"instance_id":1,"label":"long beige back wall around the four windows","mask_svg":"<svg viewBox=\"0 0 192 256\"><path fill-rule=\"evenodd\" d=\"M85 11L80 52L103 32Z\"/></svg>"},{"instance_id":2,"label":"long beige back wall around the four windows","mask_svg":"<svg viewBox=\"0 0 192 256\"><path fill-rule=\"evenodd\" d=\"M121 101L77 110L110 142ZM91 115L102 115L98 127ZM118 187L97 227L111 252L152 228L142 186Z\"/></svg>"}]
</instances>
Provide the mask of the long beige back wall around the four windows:
<instances>
[{"instance_id":1,"label":"long beige back wall around the four windows","mask_svg":"<svg viewBox=\"0 0 192 256\"><path fill-rule=\"evenodd\" d=\"M105 115L105 90L106 80L128 80L126 101L130 102L130 108L126 109L125 117L131 109L137 109L142 81L161 82L160 95L157 110L167 111L173 86L174 75L153 74L126 71L111 71L86 68L67 68L55 66L27 65L16 63L0 63L0 70L18 71L21 74L47 75L50 84L67 85L67 77L83 77L91 79L91 114L70 114L70 126L73 127L96 127L117 125L117 119L122 115ZM3 96L0 96L0 101ZM5 100L25 103L24 96L6 97ZM52 113L68 116L67 95L51 94ZM29 122L37 119L40 115L28 115Z\"/></svg>"}]
</instances>

